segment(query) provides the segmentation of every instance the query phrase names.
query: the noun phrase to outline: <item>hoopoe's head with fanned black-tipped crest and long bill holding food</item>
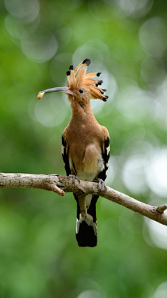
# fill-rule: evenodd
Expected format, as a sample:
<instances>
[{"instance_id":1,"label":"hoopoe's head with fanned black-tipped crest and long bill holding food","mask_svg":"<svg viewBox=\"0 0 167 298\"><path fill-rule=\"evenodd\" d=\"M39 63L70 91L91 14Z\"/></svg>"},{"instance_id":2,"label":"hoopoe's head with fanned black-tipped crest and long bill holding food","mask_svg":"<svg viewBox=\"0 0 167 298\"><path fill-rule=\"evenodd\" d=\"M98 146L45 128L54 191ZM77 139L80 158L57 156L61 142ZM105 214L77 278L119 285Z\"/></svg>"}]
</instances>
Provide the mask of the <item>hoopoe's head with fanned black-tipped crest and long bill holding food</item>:
<instances>
[{"instance_id":1,"label":"hoopoe's head with fanned black-tipped crest and long bill holding food","mask_svg":"<svg viewBox=\"0 0 167 298\"><path fill-rule=\"evenodd\" d=\"M67 94L70 101L77 100L79 103L86 103L90 98L101 99L106 101L109 96L104 95L106 89L101 89L102 80L97 80L95 77L100 77L101 73L88 73L86 70L90 64L90 59L82 61L77 68L73 65L67 70L67 87L55 87L46 89L38 93L38 99L42 98L46 93L61 91Z\"/></svg>"}]
</instances>

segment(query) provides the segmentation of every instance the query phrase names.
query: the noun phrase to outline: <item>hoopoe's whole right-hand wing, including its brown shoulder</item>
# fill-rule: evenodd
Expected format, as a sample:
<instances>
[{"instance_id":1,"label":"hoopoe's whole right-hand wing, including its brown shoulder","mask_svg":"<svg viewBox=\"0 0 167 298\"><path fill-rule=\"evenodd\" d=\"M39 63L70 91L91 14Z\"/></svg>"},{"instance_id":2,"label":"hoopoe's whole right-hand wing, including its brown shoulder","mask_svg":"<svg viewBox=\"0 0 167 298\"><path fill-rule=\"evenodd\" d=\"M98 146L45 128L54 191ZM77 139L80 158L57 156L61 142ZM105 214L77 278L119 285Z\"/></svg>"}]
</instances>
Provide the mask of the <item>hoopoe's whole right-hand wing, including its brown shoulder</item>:
<instances>
[{"instance_id":1,"label":"hoopoe's whole right-hand wing, including its brown shoulder","mask_svg":"<svg viewBox=\"0 0 167 298\"><path fill-rule=\"evenodd\" d=\"M109 131L106 129L105 126L102 126L104 131L104 142L102 144L102 159L104 162L104 169L100 174L98 174L97 178L102 179L103 181L106 179L107 171L109 168L109 158L110 158L110 138L109 138Z\"/></svg>"}]
</instances>

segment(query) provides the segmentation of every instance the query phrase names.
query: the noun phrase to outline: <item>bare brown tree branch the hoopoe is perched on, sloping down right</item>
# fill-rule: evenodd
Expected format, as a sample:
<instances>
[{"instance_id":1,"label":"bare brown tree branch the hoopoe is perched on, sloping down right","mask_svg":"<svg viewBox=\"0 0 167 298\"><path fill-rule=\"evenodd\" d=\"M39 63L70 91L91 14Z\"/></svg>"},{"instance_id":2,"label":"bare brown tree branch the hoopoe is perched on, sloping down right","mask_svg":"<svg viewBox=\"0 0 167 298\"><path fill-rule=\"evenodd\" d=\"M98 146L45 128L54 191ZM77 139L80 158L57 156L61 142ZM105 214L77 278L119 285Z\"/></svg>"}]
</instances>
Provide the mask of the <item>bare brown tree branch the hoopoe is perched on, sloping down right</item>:
<instances>
[{"instance_id":1,"label":"bare brown tree branch the hoopoe is perched on, sloping down right","mask_svg":"<svg viewBox=\"0 0 167 298\"><path fill-rule=\"evenodd\" d=\"M100 195L107 200L127 207L132 211L138 212L153 221L167 225L167 214L164 211L167 205L154 207L145 204L134 198L120 193L113 188L106 187L106 191L100 192L98 184L90 181L73 182L72 177L61 176L58 174L6 174L0 173L0 188L40 188L46 191L54 191L63 196L65 193L75 193L79 198L85 195Z\"/></svg>"}]
</instances>

